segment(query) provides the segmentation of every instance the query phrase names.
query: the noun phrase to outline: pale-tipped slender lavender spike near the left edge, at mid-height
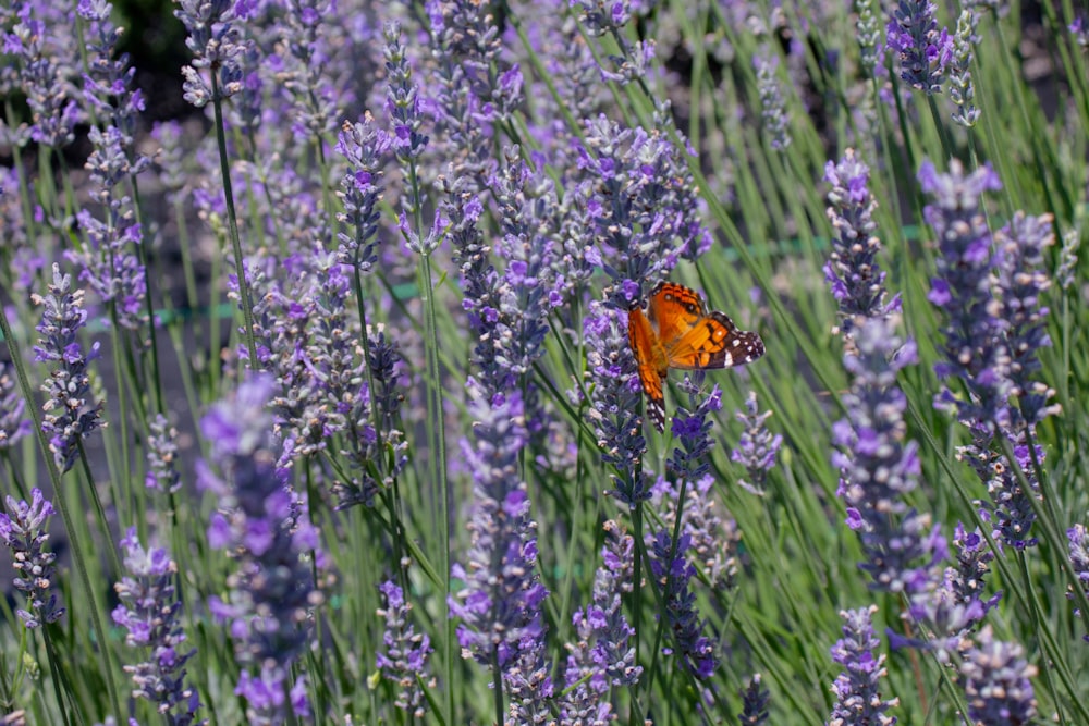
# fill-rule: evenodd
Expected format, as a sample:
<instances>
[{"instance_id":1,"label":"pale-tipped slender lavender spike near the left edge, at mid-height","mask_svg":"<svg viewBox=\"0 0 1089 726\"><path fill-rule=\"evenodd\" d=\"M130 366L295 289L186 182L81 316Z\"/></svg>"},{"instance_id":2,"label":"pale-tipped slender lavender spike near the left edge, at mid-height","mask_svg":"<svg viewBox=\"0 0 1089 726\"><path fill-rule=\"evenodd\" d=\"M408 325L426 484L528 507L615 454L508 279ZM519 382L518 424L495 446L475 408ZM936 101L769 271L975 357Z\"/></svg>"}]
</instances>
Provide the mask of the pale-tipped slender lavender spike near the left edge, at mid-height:
<instances>
[{"instance_id":1,"label":"pale-tipped slender lavender spike near the left edge, at mid-height","mask_svg":"<svg viewBox=\"0 0 1089 726\"><path fill-rule=\"evenodd\" d=\"M35 294L30 299L45 308L35 329L44 337L34 346L34 359L51 367L49 380L41 385L48 395L41 430L49 435L49 451L63 473L75 464L79 442L102 426L102 402L93 398L87 367L98 355L98 343L89 355L83 354L78 343L79 329L87 323L83 291L72 291L71 275L61 275L58 264L53 264L49 294Z\"/></svg>"}]
</instances>

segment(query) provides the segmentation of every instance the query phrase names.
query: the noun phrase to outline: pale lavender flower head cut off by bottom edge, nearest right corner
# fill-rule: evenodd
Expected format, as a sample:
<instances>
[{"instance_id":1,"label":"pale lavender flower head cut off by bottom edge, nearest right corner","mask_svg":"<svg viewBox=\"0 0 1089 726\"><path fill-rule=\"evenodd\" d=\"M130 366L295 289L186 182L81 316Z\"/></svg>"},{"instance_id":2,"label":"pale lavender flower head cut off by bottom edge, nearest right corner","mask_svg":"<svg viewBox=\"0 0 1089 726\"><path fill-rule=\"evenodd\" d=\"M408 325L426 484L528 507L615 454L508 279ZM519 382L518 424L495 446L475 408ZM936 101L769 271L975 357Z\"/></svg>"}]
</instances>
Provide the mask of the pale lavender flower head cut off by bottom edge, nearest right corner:
<instances>
[{"instance_id":1,"label":"pale lavender flower head cut off by bottom edge, nearest right corner","mask_svg":"<svg viewBox=\"0 0 1089 726\"><path fill-rule=\"evenodd\" d=\"M984 627L964 654L960 677L974 723L1019 726L1033 723L1037 709L1031 678L1037 668L1024 659L1017 643L994 639Z\"/></svg>"}]
</instances>

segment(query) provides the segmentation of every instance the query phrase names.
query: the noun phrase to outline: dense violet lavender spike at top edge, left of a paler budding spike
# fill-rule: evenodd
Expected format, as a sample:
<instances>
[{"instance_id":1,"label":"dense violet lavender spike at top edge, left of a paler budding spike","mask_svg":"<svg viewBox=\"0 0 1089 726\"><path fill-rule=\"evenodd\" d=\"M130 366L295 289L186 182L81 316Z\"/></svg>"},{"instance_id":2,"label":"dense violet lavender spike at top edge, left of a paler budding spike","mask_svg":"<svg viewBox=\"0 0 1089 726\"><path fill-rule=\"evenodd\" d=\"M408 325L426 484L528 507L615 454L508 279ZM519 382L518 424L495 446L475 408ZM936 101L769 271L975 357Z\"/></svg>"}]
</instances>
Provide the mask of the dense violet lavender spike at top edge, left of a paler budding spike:
<instances>
[{"instance_id":1,"label":"dense violet lavender spike at top edge, left of a paler budding spike","mask_svg":"<svg viewBox=\"0 0 1089 726\"><path fill-rule=\"evenodd\" d=\"M900 0L885 38L889 48L900 53L900 76L928 95L941 93L953 54L949 33L938 30L937 12L931 0Z\"/></svg>"}]
</instances>

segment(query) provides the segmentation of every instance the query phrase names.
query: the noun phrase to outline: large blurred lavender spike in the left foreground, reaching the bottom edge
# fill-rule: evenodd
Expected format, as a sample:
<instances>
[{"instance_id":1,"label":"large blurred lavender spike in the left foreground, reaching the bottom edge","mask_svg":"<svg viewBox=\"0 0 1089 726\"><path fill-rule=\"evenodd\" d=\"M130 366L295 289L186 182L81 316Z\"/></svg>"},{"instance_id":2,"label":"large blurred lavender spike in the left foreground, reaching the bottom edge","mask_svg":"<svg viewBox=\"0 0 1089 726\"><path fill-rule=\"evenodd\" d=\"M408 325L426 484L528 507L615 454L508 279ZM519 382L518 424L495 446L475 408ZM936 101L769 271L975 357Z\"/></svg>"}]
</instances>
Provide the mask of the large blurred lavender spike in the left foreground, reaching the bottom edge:
<instances>
[{"instance_id":1,"label":"large blurred lavender spike in the left foreground, reaching the bottom edge","mask_svg":"<svg viewBox=\"0 0 1089 726\"><path fill-rule=\"evenodd\" d=\"M252 723L281 723L287 672L309 640L308 608L317 596L310 563L317 537L302 503L276 466L273 420L266 411L274 383L267 374L243 382L233 401L215 404L200 421L211 457L201 483L219 496L209 540L237 562L230 602L218 603L230 622L235 659L257 666L242 673L236 692ZM292 706L298 713L299 704Z\"/></svg>"}]
</instances>

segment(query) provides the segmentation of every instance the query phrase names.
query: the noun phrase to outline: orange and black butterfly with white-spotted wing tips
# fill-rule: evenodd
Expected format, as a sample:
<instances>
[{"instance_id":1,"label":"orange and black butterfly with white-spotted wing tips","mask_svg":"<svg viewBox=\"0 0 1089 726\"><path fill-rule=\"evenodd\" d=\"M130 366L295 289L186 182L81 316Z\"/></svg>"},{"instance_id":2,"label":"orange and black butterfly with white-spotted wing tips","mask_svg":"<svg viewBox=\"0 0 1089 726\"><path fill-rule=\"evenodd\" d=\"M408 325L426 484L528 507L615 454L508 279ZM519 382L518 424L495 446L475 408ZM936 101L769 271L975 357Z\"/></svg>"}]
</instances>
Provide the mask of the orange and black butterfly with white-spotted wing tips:
<instances>
[{"instance_id":1,"label":"orange and black butterfly with white-spotted wing tips","mask_svg":"<svg viewBox=\"0 0 1089 726\"><path fill-rule=\"evenodd\" d=\"M675 282L650 291L647 313L636 303L627 312L627 341L647 394L647 409L665 431L665 377L670 368L705 370L752 362L763 355L757 333L738 330L718 310L708 312L699 293Z\"/></svg>"}]
</instances>

